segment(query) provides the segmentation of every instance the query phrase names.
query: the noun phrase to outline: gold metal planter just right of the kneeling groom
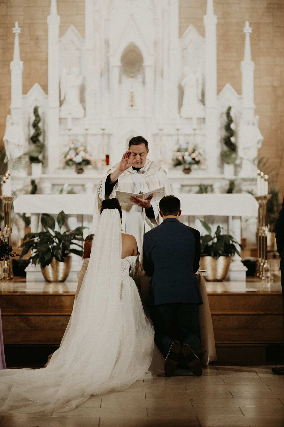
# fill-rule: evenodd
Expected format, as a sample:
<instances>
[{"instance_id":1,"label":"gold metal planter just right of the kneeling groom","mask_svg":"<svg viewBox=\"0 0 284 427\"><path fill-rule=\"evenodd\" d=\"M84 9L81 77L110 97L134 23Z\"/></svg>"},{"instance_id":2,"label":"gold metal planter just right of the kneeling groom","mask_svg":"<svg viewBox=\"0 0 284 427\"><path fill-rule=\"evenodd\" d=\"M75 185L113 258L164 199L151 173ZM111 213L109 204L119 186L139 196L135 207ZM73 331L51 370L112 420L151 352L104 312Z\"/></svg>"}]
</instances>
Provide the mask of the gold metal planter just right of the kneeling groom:
<instances>
[{"instance_id":1,"label":"gold metal planter just right of the kneeling groom","mask_svg":"<svg viewBox=\"0 0 284 427\"><path fill-rule=\"evenodd\" d=\"M207 276L204 278L208 282L221 282L227 276L231 257L219 257L218 260L212 257L200 257L200 269L207 270Z\"/></svg>"}]
</instances>

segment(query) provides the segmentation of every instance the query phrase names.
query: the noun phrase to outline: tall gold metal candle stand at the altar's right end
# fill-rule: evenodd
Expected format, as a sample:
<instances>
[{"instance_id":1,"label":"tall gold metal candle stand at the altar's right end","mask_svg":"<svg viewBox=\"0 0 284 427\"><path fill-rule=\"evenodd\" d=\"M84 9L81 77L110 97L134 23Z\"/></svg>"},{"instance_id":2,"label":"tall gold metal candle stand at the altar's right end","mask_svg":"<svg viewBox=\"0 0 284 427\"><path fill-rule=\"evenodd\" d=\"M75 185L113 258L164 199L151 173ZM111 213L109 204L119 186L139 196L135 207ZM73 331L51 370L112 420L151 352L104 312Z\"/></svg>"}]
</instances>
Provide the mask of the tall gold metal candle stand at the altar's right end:
<instances>
[{"instance_id":1,"label":"tall gold metal candle stand at the altar's right end","mask_svg":"<svg viewBox=\"0 0 284 427\"><path fill-rule=\"evenodd\" d=\"M263 278L265 274L265 266L267 266L267 234L268 234L268 218L267 218L267 202L271 194L264 196L255 196L258 202L258 231L257 231L257 249L258 260L256 275Z\"/></svg>"}]
</instances>

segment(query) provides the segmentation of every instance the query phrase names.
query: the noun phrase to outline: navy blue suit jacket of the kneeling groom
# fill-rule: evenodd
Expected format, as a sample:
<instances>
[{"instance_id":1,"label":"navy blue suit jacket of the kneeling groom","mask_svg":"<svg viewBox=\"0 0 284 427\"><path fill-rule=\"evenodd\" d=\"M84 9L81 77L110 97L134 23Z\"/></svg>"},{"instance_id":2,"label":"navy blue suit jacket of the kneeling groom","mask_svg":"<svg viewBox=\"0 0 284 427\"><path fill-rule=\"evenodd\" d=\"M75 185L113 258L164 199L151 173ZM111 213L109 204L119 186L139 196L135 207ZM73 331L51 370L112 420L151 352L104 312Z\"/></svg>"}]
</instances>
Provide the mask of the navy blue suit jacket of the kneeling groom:
<instances>
[{"instance_id":1,"label":"navy blue suit jacket of the kneeling groom","mask_svg":"<svg viewBox=\"0 0 284 427\"><path fill-rule=\"evenodd\" d=\"M152 276L146 305L202 304L195 273L199 268L200 233L175 218L166 218L144 234L143 267Z\"/></svg>"}]
</instances>

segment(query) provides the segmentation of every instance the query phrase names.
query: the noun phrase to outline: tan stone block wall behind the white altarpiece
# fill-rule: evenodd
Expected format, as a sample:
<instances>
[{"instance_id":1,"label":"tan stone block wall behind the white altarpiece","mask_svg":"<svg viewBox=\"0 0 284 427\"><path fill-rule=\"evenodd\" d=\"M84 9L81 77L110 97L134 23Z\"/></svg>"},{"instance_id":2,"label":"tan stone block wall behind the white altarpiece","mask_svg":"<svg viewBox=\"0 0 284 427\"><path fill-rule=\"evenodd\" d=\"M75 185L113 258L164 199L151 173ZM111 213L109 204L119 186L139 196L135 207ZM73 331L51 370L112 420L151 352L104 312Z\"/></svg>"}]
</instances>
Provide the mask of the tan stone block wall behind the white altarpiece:
<instances>
[{"instance_id":1,"label":"tan stone block wall behind the white altarpiece","mask_svg":"<svg viewBox=\"0 0 284 427\"><path fill-rule=\"evenodd\" d=\"M179 0L180 36L192 23L204 36L206 0ZM244 54L246 20L252 27L255 61L255 114L264 136L260 156L279 169L277 185L284 193L284 0L214 0L217 24L218 93L229 82L241 94L240 64ZM0 0L0 140L9 114L15 21L20 34L23 94L38 82L47 92L47 23L50 0ZM84 37L84 1L57 0L60 36L73 24Z\"/></svg>"}]
</instances>

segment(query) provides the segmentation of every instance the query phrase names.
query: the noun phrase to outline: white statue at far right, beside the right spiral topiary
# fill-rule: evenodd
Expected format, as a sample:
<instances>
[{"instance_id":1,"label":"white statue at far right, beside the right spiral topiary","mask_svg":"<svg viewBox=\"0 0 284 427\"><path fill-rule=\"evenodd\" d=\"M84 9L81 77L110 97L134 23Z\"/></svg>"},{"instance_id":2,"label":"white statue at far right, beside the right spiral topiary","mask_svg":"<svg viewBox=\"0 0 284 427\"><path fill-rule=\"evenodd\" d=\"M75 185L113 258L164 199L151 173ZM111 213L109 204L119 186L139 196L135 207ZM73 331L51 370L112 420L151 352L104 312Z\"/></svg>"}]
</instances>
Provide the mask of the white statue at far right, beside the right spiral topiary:
<instances>
[{"instance_id":1,"label":"white statue at far right, beside the right spiral topiary","mask_svg":"<svg viewBox=\"0 0 284 427\"><path fill-rule=\"evenodd\" d=\"M241 158L240 176L256 177L258 149L263 141L258 122L259 116L248 121L244 117L241 119L238 132L238 156Z\"/></svg>"}]
</instances>

